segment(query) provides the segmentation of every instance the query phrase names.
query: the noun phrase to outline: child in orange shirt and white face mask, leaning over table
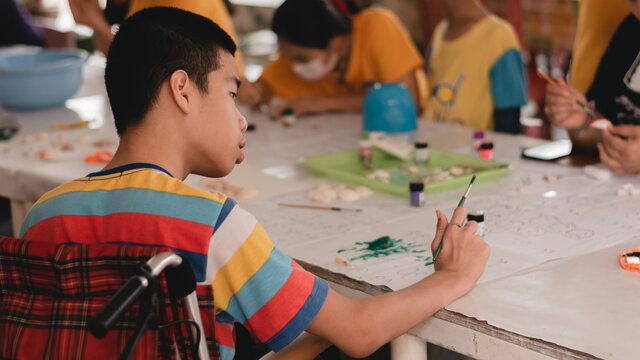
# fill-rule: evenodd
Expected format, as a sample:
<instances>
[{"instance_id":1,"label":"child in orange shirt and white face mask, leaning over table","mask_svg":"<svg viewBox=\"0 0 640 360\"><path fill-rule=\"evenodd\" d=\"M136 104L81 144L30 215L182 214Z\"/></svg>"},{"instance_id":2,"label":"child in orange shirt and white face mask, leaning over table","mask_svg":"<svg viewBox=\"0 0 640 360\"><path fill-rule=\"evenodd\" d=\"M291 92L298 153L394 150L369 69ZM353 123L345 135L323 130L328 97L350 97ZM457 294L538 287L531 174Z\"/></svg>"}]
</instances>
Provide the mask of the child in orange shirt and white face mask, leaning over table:
<instances>
[{"instance_id":1,"label":"child in orange shirt and white face mask, leaning over table","mask_svg":"<svg viewBox=\"0 0 640 360\"><path fill-rule=\"evenodd\" d=\"M355 12L355 13L354 13ZM427 96L423 58L390 11L358 11L352 0L286 0L273 31L280 54L240 91L248 105L279 98L274 114L360 112L376 82L403 83L419 108Z\"/></svg>"}]
</instances>

